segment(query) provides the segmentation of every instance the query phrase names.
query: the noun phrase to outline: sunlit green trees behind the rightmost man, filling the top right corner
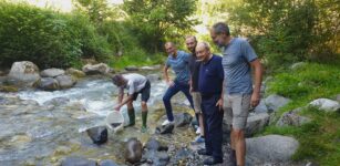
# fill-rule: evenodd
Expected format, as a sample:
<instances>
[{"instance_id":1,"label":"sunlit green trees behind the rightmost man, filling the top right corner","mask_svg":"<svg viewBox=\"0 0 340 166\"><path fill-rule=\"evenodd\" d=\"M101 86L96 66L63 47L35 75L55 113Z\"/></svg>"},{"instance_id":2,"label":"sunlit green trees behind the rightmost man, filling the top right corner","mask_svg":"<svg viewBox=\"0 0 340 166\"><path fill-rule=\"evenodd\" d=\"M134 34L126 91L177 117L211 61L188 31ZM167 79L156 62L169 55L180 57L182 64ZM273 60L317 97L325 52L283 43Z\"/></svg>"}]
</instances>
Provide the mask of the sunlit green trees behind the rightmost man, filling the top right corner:
<instances>
[{"instance_id":1,"label":"sunlit green trees behind the rightmost man, filling the top right corner","mask_svg":"<svg viewBox=\"0 0 340 166\"><path fill-rule=\"evenodd\" d=\"M303 60L337 60L340 3L336 0L228 0L217 3L228 12L235 34L251 39L267 69L282 69ZM216 11L215 11L216 12Z\"/></svg>"}]
</instances>

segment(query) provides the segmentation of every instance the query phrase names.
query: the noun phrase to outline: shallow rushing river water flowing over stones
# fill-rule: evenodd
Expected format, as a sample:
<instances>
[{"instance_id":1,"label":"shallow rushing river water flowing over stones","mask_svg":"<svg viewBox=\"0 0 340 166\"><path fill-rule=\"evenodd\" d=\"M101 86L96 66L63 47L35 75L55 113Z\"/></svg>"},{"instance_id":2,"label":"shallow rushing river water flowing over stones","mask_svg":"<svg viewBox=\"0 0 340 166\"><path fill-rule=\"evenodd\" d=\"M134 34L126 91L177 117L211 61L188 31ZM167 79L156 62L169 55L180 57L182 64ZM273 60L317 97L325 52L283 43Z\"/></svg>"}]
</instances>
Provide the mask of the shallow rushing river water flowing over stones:
<instances>
[{"instance_id":1,"label":"shallow rushing river water flowing over stones","mask_svg":"<svg viewBox=\"0 0 340 166\"><path fill-rule=\"evenodd\" d=\"M116 104L117 89L105 77L86 77L69 90L45 92L27 90L0 93L0 165L58 165L66 156L83 156L95 160L110 158L124 163L123 143L137 137L145 143L156 123L165 114L163 81L152 82L148 101L148 133L141 133L140 97L134 102L136 125L119 134L109 133L109 142L92 144L84 132L105 125L106 115ZM174 97L175 112L188 111L183 95ZM122 107L127 121L126 106ZM162 137L162 136L161 136ZM163 139L185 144L193 138L190 129Z\"/></svg>"}]
</instances>

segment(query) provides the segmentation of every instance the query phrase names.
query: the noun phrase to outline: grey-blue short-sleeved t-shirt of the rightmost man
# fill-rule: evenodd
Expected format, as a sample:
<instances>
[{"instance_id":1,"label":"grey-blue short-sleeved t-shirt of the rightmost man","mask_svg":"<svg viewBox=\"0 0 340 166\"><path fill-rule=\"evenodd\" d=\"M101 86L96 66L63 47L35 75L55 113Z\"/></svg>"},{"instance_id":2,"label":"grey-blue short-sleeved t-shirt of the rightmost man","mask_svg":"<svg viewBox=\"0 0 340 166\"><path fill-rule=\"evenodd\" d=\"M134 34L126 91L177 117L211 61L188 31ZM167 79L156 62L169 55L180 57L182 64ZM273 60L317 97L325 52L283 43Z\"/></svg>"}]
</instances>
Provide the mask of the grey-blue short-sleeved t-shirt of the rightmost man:
<instances>
[{"instance_id":1,"label":"grey-blue short-sleeved t-shirt of the rightmost man","mask_svg":"<svg viewBox=\"0 0 340 166\"><path fill-rule=\"evenodd\" d=\"M241 38L231 39L230 43L221 49L226 93L251 94L253 81L249 62L257 59L254 49L248 41Z\"/></svg>"}]
</instances>

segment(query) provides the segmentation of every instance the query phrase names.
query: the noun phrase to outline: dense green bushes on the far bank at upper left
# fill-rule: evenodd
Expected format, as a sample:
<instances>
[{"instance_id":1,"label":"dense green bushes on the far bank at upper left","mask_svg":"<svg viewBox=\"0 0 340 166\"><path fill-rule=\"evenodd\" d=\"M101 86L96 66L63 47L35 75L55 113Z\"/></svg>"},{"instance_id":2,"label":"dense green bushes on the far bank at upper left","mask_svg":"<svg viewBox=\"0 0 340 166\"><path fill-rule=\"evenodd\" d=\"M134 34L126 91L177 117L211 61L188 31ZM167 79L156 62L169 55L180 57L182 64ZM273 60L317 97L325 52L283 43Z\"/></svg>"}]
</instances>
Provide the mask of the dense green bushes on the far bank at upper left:
<instances>
[{"instance_id":1,"label":"dense green bushes on the far bank at upper left","mask_svg":"<svg viewBox=\"0 0 340 166\"><path fill-rule=\"evenodd\" d=\"M1 65L25 60L40 68L71 66L82 55L105 59L105 46L84 15L0 2Z\"/></svg>"}]
</instances>

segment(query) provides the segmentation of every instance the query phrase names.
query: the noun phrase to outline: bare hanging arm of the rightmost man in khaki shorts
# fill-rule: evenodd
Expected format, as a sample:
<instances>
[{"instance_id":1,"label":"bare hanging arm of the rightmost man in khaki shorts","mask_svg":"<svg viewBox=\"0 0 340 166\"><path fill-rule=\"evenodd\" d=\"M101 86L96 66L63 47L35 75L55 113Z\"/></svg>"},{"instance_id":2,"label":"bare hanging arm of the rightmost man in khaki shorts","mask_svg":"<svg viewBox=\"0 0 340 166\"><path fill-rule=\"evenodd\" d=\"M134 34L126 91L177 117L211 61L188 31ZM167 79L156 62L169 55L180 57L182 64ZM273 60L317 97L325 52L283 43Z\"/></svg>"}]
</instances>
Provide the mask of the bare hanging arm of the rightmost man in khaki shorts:
<instances>
[{"instance_id":1,"label":"bare hanging arm of the rightmost man in khaki shorts","mask_svg":"<svg viewBox=\"0 0 340 166\"><path fill-rule=\"evenodd\" d=\"M260 101L260 89L262 82L262 65L259 59L256 59L250 62L251 68L255 70L255 86L251 94L250 105L253 107L257 106Z\"/></svg>"}]
</instances>

